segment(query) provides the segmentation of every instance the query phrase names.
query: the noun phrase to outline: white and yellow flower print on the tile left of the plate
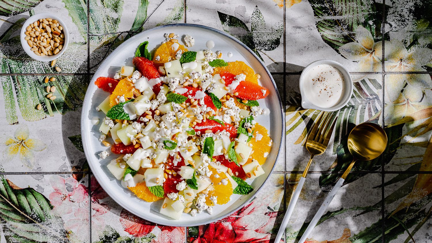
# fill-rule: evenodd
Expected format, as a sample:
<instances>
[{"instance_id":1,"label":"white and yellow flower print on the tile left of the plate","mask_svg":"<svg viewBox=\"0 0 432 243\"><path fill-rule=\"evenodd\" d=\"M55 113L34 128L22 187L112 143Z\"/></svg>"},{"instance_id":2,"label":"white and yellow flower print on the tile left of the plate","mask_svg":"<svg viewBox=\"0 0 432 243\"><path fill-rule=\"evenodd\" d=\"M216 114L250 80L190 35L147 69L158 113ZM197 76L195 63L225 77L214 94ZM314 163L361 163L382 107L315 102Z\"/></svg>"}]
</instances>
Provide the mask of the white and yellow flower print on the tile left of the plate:
<instances>
[{"instance_id":1,"label":"white and yellow flower print on the tile left of the plate","mask_svg":"<svg viewBox=\"0 0 432 243\"><path fill-rule=\"evenodd\" d=\"M42 151L47 146L39 139L29 139L29 128L26 125L20 125L15 130L13 137L6 138L6 150L4 151L7 160L11 160L19 154L21 162L29 167L33 167L35 157L33 151Z\"/></svg>"}]
</instances>

